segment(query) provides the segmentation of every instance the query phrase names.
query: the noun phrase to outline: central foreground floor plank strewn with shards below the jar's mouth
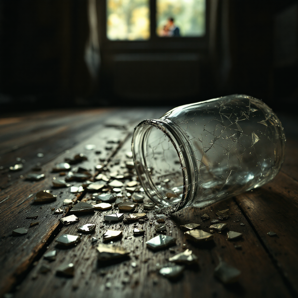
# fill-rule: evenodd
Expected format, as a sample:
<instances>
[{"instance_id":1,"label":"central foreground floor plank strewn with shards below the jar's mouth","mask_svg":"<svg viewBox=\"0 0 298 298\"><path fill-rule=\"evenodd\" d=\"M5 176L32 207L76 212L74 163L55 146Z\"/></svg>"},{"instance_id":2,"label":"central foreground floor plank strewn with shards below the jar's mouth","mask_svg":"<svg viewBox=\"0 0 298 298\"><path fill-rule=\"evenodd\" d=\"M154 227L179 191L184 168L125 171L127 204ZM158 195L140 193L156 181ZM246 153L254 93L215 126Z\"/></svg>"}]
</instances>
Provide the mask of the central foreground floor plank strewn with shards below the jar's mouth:
<instances>
[{"instance_id":1,"label":"central foreground floor plank strewn with shards below the jar's mouth","mask_svg":"<svg viewBox=\"0 0 298 298\"><path fill-rule=\"evenodd\" d=\"M130 142L127 141L114 158L123 160L129 148ZM214 241L203 245L185 240L179 225L195 222L201 224L203 230L209 231L210 221L202 222L200 216L208 213L215 219L215 212L226 208L230 212L226 221L229 229L243 233L243 239L230 242L226 240L226 232L215 232ZM146 231L144 237L133 236L134 224L103 223L105 213L96 211L94 214L79 216L80 225L89 222L97 224L94 234L83 235L81 243L71 249L58 249L53 241L47 251L57 249L57 259L49 263L41 258L18 286L15 297L291 297L279 272L233 199L205 209L183 209L167 220L167 235L177 239L177 245L173 247L175 252L189 248L199 257L198 267L187 268L184 276L176 282L159 276L157 271L158 266L166 264L167 259L173 255L170 250L152 252L146 248L145 241L155 235L154 225L150 225L150 221L157 223L153 213L148 212L150 220L142 225ZM76 228L77 225L63 227L57 237L66 233L77 235ZM91 244L91 236L98 237L100 243L107 229L123 231L122 239L115 243L131 251L130 260L105 267L97 263L96 245ZM241 244L242 250L235 249L235 244ZM224 286L214 278L214 268L219 257L242 271L238 283ZM135 268L131 266L132 262L136 262ZM58 266L67 263L75 264L74 278L56 276ZM51 271L45 275L39 274L42 264L50 266ZM111 288L105 286L108 282Z\"/></svg>"}]
</instances>

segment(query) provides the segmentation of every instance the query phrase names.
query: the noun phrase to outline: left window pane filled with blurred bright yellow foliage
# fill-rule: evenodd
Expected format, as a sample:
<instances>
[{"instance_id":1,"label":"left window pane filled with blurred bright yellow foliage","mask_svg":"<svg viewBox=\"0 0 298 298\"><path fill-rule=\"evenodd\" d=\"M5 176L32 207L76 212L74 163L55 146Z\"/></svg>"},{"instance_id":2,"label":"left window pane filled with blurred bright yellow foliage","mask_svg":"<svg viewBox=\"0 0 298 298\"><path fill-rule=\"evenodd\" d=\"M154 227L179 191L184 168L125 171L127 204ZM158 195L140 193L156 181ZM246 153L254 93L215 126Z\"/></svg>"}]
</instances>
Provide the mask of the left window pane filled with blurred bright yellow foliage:
<instances>
[{"instance_id":1,"label":"left window pane filled with blurred bright yellow foliage","mask_svg":"<svg viewBox=\"0 0 298 298\"><path fill-rule=\"evenodd\" d=\"M148 39L149 0L107 0L107 37L110 40Z\"/></svg>"}]
</instances>

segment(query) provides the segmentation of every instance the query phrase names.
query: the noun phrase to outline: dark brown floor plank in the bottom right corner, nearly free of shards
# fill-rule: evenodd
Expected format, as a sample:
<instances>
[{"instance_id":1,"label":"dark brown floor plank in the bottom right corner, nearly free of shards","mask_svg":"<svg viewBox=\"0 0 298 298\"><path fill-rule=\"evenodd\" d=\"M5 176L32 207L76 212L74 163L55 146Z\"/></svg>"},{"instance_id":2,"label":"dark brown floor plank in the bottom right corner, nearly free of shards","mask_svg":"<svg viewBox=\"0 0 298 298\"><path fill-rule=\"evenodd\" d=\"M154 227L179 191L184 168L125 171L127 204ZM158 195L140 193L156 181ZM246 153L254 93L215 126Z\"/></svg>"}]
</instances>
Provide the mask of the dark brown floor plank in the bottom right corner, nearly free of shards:
<instances>
[{"instance_id":1,"label":"dark brown floor plank in the bottom right corner, nearly free of shards","mask_svg":"<svg viewBox=\"0 0 298 298\"><path fill-rule=\"evenodd\" d=\"M236 197L285 280L298 293L298 182L280 172L273 181ZM269 231L276 237L267 235Z\"/></svg>"}]
</instances>

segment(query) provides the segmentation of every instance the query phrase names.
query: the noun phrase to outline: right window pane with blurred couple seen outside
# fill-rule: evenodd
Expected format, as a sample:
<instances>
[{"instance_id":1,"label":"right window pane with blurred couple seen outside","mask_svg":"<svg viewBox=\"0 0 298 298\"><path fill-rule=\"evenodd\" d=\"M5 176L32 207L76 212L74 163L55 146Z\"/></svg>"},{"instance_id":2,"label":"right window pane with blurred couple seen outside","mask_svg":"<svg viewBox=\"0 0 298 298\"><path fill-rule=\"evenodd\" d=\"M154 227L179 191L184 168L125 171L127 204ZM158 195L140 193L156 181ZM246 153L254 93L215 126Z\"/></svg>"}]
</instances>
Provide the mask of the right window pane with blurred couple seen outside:
<instances>
[{"instance_id":1,"label":"right window pane with blurred couple seen outside","mask_svg":"<svg viewBox=\"0 0 298 298\"><path fill-rule=\"evenodd\" d=\"M205 0L157 0L156 5L158 36L199 37L205 34Z\"/></svg>"}]
</instances>

